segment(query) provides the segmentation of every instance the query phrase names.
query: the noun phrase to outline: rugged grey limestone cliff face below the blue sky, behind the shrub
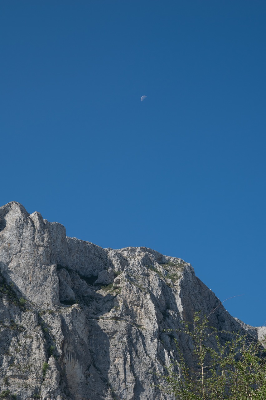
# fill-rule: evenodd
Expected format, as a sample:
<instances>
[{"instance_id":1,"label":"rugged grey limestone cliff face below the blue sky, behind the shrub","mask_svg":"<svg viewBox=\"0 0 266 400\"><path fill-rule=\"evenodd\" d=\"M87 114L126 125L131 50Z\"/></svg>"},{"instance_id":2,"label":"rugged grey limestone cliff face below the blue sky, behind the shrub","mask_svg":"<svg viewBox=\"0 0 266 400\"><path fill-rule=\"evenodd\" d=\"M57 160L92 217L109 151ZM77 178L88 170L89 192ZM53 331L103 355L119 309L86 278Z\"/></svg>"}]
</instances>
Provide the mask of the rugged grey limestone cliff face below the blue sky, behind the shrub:
<instances>
[{"instance_id":1,"label":"rugged grey limestone cliff face below the blue sky, behind the shrub","mask_svg":"<svg viewBox=\"0 0 266 400\"><path fill-rule=\"evenodd\" d=\"M245 329L180 258L66 237L17 202L0 208L0 274L0 390L18 400L170 400L156 374L175 338L193 366L182 320Z\"/></svg>"}]
</instances>

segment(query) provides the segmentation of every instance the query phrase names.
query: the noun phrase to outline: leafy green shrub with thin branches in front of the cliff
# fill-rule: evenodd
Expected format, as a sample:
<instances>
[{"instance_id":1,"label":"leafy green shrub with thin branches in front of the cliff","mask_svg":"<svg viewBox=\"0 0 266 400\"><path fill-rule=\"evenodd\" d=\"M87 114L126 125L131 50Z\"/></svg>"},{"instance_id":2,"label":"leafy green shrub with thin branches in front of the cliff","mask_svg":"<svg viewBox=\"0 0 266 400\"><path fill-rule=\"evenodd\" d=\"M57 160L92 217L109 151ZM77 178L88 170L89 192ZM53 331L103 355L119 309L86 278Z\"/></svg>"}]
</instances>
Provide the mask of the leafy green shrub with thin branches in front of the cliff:
<instances>
[{"instance_id":1,"label":"leafy green shrub with thin branches in front of the cliff","mask_svg":"<svg viewBox=\"0 0 266 400\"><path fill-rule=\"evenodd\" d=\"M232 332L222 333L232 338ZM266 399L266 352L259 343L236 333L221 344L217 330L209 326L206 316L200 318L200 313L195 314L192 324L185 322L185 334L187 341L193 343L197 368L191 371L187 367L175 340L179 373L171 364L167 375L161 376L167 382L167 392L179 400ZM160 387L164 389L163 385Z\"/></svg>"}]
</instances>

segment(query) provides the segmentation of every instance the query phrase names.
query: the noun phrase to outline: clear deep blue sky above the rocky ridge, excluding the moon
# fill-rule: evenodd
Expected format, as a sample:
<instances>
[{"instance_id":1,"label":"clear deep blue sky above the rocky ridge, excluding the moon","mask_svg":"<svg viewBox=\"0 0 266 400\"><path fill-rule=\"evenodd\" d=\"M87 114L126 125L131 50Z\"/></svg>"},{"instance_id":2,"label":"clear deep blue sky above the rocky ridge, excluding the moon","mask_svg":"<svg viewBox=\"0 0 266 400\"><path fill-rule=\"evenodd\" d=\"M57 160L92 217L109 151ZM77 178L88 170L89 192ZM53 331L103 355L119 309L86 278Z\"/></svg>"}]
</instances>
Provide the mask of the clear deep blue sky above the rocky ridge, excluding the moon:
<instances>
[{"instance_id":1,"label":"clear deep blue sky above the rocky ridge, excluding the moon","mask_svg":"<svg viewBox=\"0 0 266 400\"><path fill-rule=\"evenodd\" d=\"M181 257L263 325L265 21L264 0L2 1L0 204Z\"/></svg>"}]
</instances>

